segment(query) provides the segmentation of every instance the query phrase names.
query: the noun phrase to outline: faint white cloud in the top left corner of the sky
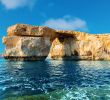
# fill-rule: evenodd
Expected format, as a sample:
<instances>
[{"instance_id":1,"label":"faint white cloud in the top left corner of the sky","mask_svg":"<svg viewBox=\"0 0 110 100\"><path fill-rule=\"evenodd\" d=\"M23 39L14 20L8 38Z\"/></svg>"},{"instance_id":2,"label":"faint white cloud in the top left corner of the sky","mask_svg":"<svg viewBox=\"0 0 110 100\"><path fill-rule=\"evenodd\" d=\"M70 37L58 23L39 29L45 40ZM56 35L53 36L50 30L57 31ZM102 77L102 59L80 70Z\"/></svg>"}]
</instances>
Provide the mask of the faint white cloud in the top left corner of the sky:
<instances>
[{"instance_id":1,"label":"faint white cloud in the top left corner of the sky","mask_svg":"<svg viewBox=\"0 0 110 100\"><path fill-rule=\"evenodd\" d=\"M0 3L5 6L6 9L16 9L19 7L32 8L36 0L0 0Z\"/></svg>"}]
</instances>

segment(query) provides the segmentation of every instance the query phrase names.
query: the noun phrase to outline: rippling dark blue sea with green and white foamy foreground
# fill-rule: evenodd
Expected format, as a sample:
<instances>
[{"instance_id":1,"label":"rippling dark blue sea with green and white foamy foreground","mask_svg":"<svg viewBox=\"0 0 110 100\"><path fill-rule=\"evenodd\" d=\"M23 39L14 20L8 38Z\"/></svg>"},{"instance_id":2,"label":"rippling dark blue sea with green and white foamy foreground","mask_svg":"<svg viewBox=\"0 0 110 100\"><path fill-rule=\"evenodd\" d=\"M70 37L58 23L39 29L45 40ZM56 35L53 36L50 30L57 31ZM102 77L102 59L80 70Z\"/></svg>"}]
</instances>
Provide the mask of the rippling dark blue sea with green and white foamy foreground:
<instances>
[{"instance_id":1,"label":"rippling dark blue sea with green and white foamy foreground","mask_svg":"<svg viewBox=\"0 0 110 100\"><path fill-rule=\"evenodd\" d=\"M110 100L110 61L0 59L0 100Z\"/></svg>"}]
</instances>

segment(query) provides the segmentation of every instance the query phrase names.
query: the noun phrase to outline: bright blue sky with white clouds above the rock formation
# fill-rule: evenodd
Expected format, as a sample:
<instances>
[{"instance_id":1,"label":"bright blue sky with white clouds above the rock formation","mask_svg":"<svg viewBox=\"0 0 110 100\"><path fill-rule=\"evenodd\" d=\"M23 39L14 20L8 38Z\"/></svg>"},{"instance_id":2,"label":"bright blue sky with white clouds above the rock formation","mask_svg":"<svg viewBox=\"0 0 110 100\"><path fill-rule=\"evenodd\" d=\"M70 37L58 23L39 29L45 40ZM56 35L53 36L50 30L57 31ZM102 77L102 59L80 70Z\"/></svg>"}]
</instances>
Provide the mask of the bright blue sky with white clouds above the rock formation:
<instances>
[{"instance_id":1,"label":"bright blue sky with white clouds above the rock formation","mask_svg":"<svg viewBox=\"0 0 110 100\"><path fill-rule=\"evenodd\" d=\"M110 33L110 0L0 0L0 53L7 28L17 23Z\"/></svg>"}]
</instances>

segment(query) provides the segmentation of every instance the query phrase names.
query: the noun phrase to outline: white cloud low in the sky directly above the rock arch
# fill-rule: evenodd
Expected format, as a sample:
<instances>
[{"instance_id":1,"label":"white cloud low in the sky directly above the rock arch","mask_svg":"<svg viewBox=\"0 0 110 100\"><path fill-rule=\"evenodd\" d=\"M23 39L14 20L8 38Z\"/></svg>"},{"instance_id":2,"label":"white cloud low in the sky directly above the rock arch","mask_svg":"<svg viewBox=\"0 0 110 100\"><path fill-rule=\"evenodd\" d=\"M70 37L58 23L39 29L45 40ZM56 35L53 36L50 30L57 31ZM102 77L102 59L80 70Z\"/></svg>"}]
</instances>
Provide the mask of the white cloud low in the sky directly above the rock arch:
<instances>
[{"instance_id":1,"label":"white cloud low in the sky directly above the rock arch","mask_svg":"<svg viewBox=\"0 0 110 100\"><path fill-rule=\"evenodd\" d=\"M43 25L54 29L88 31L85 20L76 17L73 18L69 15L63 18L49 19Z\"/></svg>"}]
</instances>

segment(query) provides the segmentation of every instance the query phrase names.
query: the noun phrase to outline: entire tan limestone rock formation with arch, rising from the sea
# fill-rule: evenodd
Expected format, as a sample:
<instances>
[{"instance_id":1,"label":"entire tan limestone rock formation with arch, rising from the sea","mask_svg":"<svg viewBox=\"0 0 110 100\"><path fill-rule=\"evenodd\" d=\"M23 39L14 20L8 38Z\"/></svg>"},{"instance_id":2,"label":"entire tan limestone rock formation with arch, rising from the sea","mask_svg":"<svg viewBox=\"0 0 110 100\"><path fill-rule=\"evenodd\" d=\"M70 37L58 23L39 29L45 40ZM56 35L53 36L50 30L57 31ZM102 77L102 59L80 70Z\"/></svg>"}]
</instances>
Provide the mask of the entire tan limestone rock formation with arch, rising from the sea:
<instances>
[{"instance_id":1,"label":"entire tan limestone rock formation with arch, rising from the sea","mask_svg":"<svg viewBox=\"0 0 110 100\"><path fill-rule=\"evenodd\" d=\"M12 60L110 60L110 35L17 24L3 37L4 57Z\"/></svg>"}]
</instances>

